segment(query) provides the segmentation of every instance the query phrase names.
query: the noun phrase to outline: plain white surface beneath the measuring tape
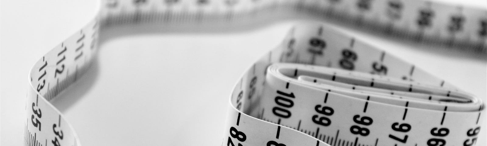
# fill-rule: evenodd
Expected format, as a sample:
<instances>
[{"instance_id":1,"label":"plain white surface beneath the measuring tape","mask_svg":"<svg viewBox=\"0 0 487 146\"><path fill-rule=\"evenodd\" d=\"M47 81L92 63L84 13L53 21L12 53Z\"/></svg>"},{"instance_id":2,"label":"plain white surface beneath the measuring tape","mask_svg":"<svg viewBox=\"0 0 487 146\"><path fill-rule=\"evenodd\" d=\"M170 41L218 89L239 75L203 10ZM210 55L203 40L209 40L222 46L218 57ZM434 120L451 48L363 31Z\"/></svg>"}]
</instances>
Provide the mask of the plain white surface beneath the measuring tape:
<instances>
[{"instance_id":1,"label":"plain white surface beneath the measuring tape","mask_svg":"<svg viewBox=\"0 0 487 146\"><path fill-rule=\"evenodd\" d=\"M95 3L1 1L1 146L23 145L30 67L84 25ZM84 146L220 145L233 84L295 23L110 39L100 45L94 66L54 104ZM354 34L486 100L485 59ZM478 146L486 145L485 131Z\"/></svg>"}]
</instances>

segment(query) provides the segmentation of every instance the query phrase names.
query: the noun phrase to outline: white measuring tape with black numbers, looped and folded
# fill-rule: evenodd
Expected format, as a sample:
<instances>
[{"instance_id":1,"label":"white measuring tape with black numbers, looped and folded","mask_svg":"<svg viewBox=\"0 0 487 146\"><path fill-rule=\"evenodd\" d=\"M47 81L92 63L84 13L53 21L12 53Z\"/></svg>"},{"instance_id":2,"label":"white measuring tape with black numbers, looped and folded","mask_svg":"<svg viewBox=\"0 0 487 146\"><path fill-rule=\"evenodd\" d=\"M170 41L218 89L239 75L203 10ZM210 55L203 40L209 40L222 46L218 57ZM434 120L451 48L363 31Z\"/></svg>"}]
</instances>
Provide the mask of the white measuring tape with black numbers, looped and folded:
<instances>
[{"instance_id":1,"label":"white measuring tape with black numbers, looped and folded","mask_svg":"<svg viewBox=\"0 0 487 146\"><path fill-rule=\"evenodd\" d=\"M354 20L395 36L486 52L486 10L429 1L102 1L91 22L32 68L25 145L80 145L50 101L89 68L100 29L236 23L289 12ZM485 119L480 98L321 24L294 27L244 73L228 107L222 146L474 146Z\"/></svg>"}]
</instances>

